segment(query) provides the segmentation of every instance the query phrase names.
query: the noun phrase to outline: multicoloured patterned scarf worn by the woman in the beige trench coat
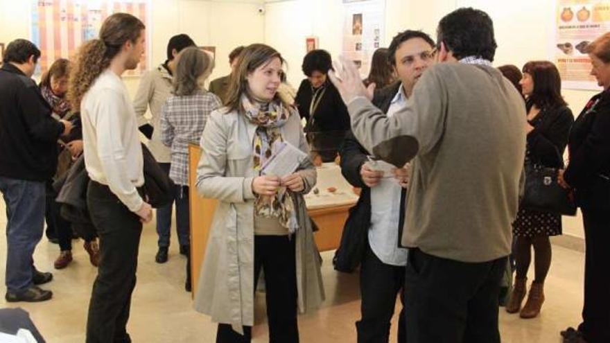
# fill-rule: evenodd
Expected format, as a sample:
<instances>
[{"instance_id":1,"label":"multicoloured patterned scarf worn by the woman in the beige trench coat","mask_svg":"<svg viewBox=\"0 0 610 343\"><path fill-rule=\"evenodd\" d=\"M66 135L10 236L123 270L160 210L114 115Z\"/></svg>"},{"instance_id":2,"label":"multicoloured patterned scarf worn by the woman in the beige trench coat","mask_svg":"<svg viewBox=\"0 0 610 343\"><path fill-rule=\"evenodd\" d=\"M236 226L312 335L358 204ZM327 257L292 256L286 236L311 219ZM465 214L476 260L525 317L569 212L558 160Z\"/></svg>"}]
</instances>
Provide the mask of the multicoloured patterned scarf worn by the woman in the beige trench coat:
<instances>
[{"instance_id":1,"label":"multicoloured patterned scarf worn by the woman in the beige trench coat","mask_svg":"<svg viewBox=\"0 0 610 343\"><path fill-rule=\"evenodd\" d=\"M245 109L245 117L250 123L256 125L252 148L254 170L260 173L265 162L277 151L279 146L277 143L284 141L280 127L288 121L290 109L275 102L252 103L246 96L243 96L241 101ZM286 187L279 188L274 197L257 194L256 200L254 200L254 215L277 218L290 234L293 234L298 227L292 194Z\"/></svg>"}]
</instances>

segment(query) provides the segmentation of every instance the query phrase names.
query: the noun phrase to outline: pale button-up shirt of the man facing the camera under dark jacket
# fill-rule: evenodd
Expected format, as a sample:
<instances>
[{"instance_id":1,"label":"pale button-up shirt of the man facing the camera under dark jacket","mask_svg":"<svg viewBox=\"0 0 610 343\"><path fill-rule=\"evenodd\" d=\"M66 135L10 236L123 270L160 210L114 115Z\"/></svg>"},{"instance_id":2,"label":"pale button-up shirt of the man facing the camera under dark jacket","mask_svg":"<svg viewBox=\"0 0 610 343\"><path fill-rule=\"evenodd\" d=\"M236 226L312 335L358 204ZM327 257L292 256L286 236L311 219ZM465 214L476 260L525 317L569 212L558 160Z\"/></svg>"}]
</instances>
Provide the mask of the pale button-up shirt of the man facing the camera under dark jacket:
<instances>
[{"instance_id":1,"label":"pale button-up shirt of the man facing the camera under dark jacket","mask_svg":"<svg viewBox=\"0 0 610 343\"><path fill-rule=\"evenodd\" d=\"M407 103L401 86L387 109L392 116ZM384 174L371 188L371 227L369 245L374 254L387 265L406 265L407 249L399 248L400 200L403 188L392 174Z\"/></svg>"}]
</instances>

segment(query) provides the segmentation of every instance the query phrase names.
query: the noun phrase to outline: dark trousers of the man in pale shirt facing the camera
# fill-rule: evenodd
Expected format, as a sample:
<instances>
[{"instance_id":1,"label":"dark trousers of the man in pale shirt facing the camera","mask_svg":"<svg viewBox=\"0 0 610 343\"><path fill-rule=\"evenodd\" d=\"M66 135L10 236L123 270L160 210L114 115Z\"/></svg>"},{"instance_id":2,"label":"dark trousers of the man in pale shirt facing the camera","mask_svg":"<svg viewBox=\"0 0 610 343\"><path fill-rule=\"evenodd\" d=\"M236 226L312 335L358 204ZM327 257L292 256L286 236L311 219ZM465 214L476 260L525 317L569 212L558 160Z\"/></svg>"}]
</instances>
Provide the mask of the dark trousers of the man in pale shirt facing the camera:
<instances>
[{"instance_id":1,"label":"dark trousers of the man in pale shirt facing the camera","mask_svg":"<svg viewBox=\"0 0 610 343\"><path fill-rule=\"evenodd\" d=\"M360 312L356 322L358 343L383 343L390 340L390 320L400 293L403 308L398 322L398 342L406 342L404 292L405 267L383 263L367 245L360 264Z\"/></svg>"}]
</instances>

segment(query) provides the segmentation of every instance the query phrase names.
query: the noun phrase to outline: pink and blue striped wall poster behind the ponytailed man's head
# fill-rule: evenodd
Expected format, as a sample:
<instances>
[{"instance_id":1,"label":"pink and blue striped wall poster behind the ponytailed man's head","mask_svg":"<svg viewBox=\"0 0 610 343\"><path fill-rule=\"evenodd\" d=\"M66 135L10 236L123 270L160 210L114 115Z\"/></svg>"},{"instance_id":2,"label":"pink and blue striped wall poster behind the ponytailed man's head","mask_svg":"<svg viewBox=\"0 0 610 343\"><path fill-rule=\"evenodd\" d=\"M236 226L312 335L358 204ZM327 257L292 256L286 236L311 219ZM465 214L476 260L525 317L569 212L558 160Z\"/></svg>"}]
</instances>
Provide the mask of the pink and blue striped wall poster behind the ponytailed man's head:
<instances>
[{"instance_id":1,"label":"pink and blue striped wall poster behind the ponytailed man's head","mask_svg":"<svg viewBox=\"0 0 610 343\"><path fill-rule=\"evenodd\" d=\"M30 0L32 42L42 56L37 75L44 73L58 58L73 58L80 45L98 37L103 21L115 12L127 12L146 25L146 53L138 69L125 76L140 76L150 56L149 0Z\"/></svg>"}]
</instances>

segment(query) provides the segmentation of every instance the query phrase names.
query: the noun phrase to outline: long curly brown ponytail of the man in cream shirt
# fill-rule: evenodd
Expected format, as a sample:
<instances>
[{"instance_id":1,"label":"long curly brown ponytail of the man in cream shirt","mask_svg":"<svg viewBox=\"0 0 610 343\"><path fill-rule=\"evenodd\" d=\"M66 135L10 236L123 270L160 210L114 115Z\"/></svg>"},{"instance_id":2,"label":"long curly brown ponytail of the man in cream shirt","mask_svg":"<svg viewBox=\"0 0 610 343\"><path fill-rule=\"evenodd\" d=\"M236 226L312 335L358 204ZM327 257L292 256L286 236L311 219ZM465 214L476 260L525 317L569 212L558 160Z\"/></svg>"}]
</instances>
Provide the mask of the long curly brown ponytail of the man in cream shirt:
<instances>
[{"instance_id":1,"label":"long curly brown ponytail of the man in cream shirt","mask_svg":"<svg viewBox=\"0 0 610 343\"><path fill-rule=\"evenodd\" d=\"M110 67L110 62L119 55L125 42L135 44L144 28L137 17L128 13L114 13L102 24L99 38L80 46L69 78L67 97L72 109L80 111L80 101L96 78Z\"/></svg>"}]
</instances>

